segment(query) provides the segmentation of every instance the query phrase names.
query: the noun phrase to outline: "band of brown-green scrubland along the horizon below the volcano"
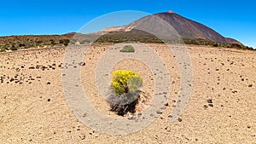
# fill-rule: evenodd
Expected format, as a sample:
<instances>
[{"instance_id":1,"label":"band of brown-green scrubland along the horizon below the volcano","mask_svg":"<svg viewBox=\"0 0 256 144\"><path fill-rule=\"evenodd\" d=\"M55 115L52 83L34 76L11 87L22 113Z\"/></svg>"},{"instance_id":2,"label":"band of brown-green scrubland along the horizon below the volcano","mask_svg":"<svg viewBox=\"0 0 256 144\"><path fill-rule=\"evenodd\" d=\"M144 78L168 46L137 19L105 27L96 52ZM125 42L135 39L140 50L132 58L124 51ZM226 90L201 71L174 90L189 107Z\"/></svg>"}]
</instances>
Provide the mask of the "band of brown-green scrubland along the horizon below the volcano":
<instances>
[{"instance_id":1,"label":"band of brown-green scrubland along the horizon below the volcano","mask_svg":"<svg viewBox=\"0 0 256 144\"><path fill-rule=\"evenodd\" d=\"M159 37L153 34L143 32L140 30L131 30L131 32L109 32L101 37L94 34L81 34L69 33L65 35L41 35L41 36L8 36L0 37L1 52L9 49L28 49L28 48L53 48L67 46L72 44L85 44L85 43L124 43L124 42L140 42L140 43L164 43ZM73 37L74 36L74 37ZM70 41L72 39L72 41ZM167 43L185 43L196 45L207 45L218 48L235 48L235 49L249 49L254 50L252 47L235 43L218 43L206 39L169 39L165 40ZM126 48L125 48L126 49ZM129 50L128 50L129 51Z\"/></svg>"}]
</instances>

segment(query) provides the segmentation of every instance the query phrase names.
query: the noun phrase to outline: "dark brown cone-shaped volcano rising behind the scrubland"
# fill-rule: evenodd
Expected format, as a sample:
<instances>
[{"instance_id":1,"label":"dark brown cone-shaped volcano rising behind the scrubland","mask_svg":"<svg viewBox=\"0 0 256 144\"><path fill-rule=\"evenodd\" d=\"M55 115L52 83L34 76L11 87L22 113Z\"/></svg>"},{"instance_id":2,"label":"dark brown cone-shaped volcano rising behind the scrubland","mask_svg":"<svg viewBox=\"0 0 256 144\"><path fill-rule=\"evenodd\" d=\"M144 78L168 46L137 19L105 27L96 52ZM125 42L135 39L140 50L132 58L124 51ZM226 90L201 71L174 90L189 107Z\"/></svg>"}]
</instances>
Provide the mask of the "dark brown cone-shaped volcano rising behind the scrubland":
<instances>
[{"instance_id":1,"label":"dark brown cone-shaped volcano rising behind the scrubland","mask_svg":"<svg viewBox=\"0 0 256 144\"><path fill-rule=\"evenodd\" d=\"M172 30L170 30L170 27L172 27ZM218 43L238 43L242 45L242 43L238 42L236 39L224 37L218 32L214 31L212 28L196 22L195 20L189 20L179 14L172 12L171 10L159 14L150 14L139 20L131 22L126 26L108 27L101 32L109 33L110 30L111 32L121 32L122 35L127 35L125 32L130 32L130 34L132 33L135 35L137 33L138 37L145 36L145 34L142 34L142 31L145 31L148 33L153 32L153 34L158 33L161 35L161 37L179 37L185 39L206 40ZM111 36L113 36L113 34L111 34Z\"/></svg>"}]
</instances>

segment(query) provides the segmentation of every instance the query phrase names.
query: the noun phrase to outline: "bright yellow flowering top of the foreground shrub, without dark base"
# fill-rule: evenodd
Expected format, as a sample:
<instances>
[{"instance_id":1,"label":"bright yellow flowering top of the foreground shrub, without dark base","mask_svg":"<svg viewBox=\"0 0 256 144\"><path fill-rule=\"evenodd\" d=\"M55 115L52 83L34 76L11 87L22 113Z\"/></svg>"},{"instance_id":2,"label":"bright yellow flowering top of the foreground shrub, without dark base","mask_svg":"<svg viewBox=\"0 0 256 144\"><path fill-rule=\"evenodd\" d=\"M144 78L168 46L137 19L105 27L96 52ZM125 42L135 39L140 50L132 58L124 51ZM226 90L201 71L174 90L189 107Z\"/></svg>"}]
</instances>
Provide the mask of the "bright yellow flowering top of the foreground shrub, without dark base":
<instances>
[{"instance_id":1,"label":"bright yellow flowering top of the foreground shrub, without dark base","mask_svg":"<svg viewBox=\"0 0 256 144\"><path fill-rule=\"evenodd\" d=\"M135 93L143 84L143 79L132 71L117 70L113 72L111 86L117 95Z\"/></svg>"}]
</instances>

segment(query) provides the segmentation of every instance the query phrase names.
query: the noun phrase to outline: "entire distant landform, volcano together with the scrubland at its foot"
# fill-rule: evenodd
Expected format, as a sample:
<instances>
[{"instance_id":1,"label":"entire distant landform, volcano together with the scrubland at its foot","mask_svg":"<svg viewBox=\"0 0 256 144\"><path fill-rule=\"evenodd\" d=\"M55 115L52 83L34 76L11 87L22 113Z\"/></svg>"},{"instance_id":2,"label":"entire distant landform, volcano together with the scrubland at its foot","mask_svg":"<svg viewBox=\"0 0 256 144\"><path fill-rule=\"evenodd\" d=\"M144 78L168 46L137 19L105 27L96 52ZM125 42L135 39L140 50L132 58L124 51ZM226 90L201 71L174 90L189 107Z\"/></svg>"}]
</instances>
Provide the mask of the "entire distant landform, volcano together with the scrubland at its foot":
<instances>
[{"instance_id":1,"label":"entire distant landform, volcano together with the scrubland at its foot","mask_svg":"<svg viewBox=\"0 0 256 144\"><path fill-rule=\"evenodd\" d=\"M171 28L170 30L170 26ZM167 27L167 28L166 28ZM160 36L160 37L159 37ZM27 35L0 37L0 51L53 48L84 43L163 43L163 39L174 43L212 45L236 49L253 49L236 39L224 37L210 27L189 20L172 11L151 14L126 26L107 27L99 32L82 34L69 32L63 35Z\"/></svg>"}]
</instances>

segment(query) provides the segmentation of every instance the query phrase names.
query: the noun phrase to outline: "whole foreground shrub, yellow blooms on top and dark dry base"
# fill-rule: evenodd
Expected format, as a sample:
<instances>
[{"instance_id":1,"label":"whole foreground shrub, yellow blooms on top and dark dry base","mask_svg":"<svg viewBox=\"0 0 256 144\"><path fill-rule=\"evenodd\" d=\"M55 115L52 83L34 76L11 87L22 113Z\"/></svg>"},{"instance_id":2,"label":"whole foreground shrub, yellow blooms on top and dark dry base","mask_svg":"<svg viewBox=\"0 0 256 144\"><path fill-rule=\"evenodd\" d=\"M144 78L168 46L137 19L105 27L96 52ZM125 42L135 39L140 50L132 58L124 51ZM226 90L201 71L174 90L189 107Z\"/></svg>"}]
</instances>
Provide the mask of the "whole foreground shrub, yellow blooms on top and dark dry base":
<instances>
[{"instance_id":1,"label":"whole foreground shrub, yellow blooms on top and dark dry base","mask_svg":"<svg viewBox=\"0 0 256 144\"><path fill-rule=\"evenodd\" d=\"M139 89L142 85L143 79L135 72L127 70L113 72L111 81L113 95L109 97L111 110L119 115L135 112L140 93Z\"/></svg>"}]
</instances>

